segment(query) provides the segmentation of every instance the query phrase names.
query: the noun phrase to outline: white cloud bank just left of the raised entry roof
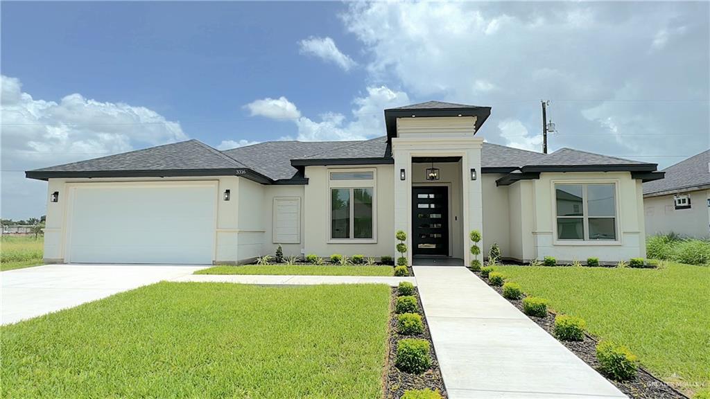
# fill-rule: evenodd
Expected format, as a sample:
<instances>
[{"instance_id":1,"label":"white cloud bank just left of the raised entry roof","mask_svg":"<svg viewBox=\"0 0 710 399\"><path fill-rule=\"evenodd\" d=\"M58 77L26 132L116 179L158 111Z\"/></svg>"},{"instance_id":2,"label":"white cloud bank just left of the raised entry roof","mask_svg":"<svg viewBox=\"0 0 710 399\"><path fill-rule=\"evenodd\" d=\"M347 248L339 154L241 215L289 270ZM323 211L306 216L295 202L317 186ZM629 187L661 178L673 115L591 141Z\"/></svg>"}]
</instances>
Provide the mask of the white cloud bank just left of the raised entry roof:
<instances>
[{"instance_id":1,"label":"white cloud bank just left of the raised entry roof","mask_svg":"<svg viewBox=\"0 0 710 399\"><path fill-rule=\"evenodd\" d=\"M285 97L281 97L281 99L288 102ZM256 100L251 104L266 100L271 99ZM306 116L293 119L293 123L298 129L295 139L300 141L339 141L365 140L382 136L385 132L382 110L405 105L409 102L409 97L405 92L397 92L385 86L367 87L366 96L354 99L355 108L351 111L350 118L343 114L328 112L318 116L317 120ZM291 102L288 104L293 106L294 114L301 114L295 104ZM293 140L294 138L287 136L283 139Z\"/></svg>"}]
</instances>

